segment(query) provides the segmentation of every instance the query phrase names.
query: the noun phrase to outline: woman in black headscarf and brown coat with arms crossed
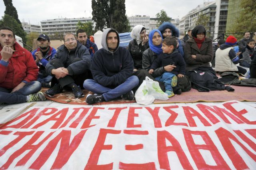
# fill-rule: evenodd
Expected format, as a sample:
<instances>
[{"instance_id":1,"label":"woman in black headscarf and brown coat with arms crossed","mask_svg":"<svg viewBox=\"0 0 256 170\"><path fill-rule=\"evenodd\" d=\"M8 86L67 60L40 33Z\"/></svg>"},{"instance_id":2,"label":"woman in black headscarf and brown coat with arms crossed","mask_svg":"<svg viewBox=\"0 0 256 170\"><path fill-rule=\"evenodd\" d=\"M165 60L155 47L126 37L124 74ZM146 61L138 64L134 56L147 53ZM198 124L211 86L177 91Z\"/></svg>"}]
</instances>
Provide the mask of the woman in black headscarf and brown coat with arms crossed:
<instances>
[{"instance_id":1,"label":"woman in black headscarf and brown coat with arms crossed","mask_svg":"<svg viewBox=\"0 0 256 170\"><path fill-rule=\"evenodd\" d=\"M213 58L212 39L206 37L204 26L198 25L192 30L192 37L186 41L184 59L186 72L200 66L210 67Z\"/></svg>"}]
</instances>

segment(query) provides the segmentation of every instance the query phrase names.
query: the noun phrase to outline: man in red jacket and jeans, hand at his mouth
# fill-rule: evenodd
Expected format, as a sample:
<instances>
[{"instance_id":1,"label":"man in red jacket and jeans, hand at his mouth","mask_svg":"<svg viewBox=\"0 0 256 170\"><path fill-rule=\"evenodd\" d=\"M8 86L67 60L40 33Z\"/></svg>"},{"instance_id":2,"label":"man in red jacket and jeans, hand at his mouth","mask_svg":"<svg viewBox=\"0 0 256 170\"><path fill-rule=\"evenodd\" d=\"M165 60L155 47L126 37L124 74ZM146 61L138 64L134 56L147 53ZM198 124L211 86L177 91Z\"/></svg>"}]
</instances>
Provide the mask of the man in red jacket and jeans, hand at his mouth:
<instances>
[{"instance_id":1,"label":"man in red jacket and jeans, hand at his mouth","mask_svg":"<svg viewBox=\"0 0 256 170\"><path fill-rule=\"evenodd\" d=\"M44 101L37 76L32 54L16 42L10 28L0 28L0 103Z\"/></svg>"}]
</instances>

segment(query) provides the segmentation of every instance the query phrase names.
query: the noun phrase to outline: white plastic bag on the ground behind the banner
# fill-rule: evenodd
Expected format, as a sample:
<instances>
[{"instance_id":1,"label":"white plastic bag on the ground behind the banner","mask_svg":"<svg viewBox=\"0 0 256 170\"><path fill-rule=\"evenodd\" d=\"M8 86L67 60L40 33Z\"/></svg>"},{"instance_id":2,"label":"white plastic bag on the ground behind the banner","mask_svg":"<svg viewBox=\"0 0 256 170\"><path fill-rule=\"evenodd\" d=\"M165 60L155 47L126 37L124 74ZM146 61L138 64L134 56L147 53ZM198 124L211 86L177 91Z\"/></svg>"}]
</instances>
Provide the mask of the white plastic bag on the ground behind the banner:
<instances>
[{"instance_id":1,"label":"white plastic bag on the ground behind the banner","mask_svg":"<svg viewBox=\"0 0 256 170\"><path fill-rule=\"evenodd\" d=\"M157 81L149 77L143 80L135 93L136 102L141 105L150 105L155 99L168 100L168 95L162 91Z\"/></svg>"}]
</instances>

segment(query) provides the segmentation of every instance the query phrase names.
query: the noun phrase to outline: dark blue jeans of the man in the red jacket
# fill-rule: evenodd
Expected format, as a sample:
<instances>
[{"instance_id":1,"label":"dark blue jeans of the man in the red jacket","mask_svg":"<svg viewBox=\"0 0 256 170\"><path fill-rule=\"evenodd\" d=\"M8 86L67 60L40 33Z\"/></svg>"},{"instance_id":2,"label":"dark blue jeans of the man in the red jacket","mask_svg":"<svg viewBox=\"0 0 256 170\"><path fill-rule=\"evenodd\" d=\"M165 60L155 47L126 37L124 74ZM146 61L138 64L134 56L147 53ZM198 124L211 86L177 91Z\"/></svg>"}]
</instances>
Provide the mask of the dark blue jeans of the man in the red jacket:
<instances>
[{"instance_id":1,"label":"dark blue jeans of the man in the red jacket","mask_svg":"<svg viewBox=\"0 0 256 170\"><path fill-rule=\"evenodd\" d=\"M41 90L41 83L39 81L31 81L26 83L24 87L11 93L12 89L5 89L0 87L0 103L16 104L25 103L28 95L37 93Z\"/></svg>"}]
</instances>

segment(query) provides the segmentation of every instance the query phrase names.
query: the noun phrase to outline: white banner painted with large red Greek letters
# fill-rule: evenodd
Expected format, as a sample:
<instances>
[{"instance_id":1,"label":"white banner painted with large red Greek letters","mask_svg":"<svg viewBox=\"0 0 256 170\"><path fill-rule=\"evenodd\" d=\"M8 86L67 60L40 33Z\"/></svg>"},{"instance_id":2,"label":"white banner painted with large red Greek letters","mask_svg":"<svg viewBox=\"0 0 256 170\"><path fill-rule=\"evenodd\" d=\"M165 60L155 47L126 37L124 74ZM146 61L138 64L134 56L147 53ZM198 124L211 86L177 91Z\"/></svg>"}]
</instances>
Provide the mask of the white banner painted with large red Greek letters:
<instances>
[{"instance_id":1,"label":"white banner painted with large red Greek letters","mask_svg":"<svg viewBox=\"0 0 256 170\"><path fill-rule=\"evenodd\" d=\"M0 115L0 169L255 169L256 109L31 107ZM4 121L3 121L4 120Z\"/></svg>"}]
</instances>

